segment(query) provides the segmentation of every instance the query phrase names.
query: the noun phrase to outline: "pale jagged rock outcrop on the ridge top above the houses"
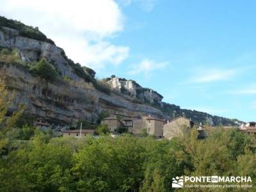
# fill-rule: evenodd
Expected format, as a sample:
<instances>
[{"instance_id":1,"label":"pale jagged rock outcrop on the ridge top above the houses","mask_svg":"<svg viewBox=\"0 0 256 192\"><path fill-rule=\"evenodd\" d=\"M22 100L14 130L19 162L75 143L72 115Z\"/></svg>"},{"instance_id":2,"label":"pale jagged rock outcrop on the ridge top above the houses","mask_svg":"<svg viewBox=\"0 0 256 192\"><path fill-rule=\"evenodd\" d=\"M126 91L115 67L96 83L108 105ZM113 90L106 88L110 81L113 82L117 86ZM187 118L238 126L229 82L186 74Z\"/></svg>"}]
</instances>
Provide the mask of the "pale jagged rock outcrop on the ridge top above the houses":
<instances>
[{"instance_id":1,"label":"pale jagged rock outcrop on the ridge top above the houses","mask_svg":"<svg viewBox=\"0 0 256 192\"><path fill-rule=\"evenodd\" d=\"M106 82L110 84L113 89L120 93L129 95L132 98L137 99L139 102L158 104L159 106L162 106L162 95L152 89L143 88L133 80L111 77L107 79Z\"/></svg>"}]
</instances>

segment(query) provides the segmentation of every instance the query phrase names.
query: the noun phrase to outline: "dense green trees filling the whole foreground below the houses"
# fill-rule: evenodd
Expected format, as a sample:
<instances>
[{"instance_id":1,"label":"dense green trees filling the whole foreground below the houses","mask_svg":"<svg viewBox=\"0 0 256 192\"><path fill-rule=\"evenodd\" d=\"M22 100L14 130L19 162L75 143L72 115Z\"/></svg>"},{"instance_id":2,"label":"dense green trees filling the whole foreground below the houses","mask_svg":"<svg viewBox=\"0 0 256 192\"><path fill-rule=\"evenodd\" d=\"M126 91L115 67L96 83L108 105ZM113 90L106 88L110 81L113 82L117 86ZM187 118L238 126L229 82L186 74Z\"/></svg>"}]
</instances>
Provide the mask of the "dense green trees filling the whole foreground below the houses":
<instances>
[{"instance_id":1,"label":"dense green trees filling the whole foreground below the houses","mask_svg":"<svg viewBox=\"0 0 256 192\"><path fill-rule=\"evenodd\" d=\"M247 175L256 184L256 141L248 134L219 128L207 130L206 140L195 129L171 141L53 138L20 121L28 119L24 106L4 116L10 101L0 84L0 191L162 192L173 191L177 175Z\"/></svg>"}]
</instances>

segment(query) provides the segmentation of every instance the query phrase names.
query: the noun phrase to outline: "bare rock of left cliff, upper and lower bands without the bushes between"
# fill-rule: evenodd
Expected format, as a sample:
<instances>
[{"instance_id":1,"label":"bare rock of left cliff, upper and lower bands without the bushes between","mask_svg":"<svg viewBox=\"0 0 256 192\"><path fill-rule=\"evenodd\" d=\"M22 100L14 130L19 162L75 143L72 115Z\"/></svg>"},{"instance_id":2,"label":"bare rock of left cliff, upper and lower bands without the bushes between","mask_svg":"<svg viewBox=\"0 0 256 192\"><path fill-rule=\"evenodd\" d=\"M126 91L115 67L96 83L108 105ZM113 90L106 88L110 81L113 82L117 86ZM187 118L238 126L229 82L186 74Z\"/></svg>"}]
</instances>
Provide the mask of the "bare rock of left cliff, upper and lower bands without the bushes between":
<instances>
[{"instance_id":1,"label":"bare rock of left cliff, upper and lower bands without the bushes between","mask_svg":"<svg viewBox=\"0 0 256 192\"><path fill-rule=\"evenodd\" d=\"M28 106L29 113L49 121L62 121L67 124L77 120L95 122L101 111L115 115L140 116L154 114L164 117L159 109L143 104L135 104L120 95L106 95L96 90L92 83L86 83L68 66L66 56L60 47L23 36L10 28L0 29L0 46L19 49L22 61L38 61L40 58L54 61L62 76L68 76L72 83L49 83L31 75L26 68L1 63L0 76L6 86L15 92L15 102Z\"/></svg>"}]
</instances>

